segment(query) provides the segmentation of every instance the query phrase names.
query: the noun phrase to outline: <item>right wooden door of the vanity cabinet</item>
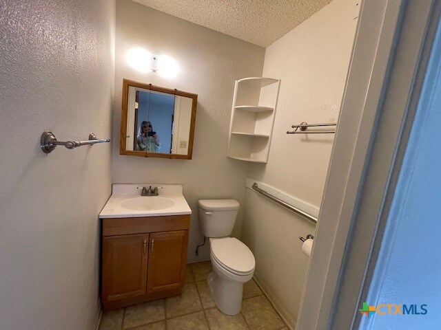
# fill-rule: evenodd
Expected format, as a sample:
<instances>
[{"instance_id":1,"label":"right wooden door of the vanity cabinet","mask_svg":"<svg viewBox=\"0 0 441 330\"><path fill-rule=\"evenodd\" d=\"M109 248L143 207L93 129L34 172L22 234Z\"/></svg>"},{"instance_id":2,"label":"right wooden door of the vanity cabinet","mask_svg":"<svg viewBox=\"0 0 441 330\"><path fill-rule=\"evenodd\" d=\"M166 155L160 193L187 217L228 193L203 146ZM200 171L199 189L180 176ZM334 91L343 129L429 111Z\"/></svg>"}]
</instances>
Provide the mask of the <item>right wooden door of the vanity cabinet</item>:
<instances>
[{"instance_id":1,"label":"right wooden door of the vanity cabinet","mask_svg":"<svg viewBox=\"0 0 441 330\"><path fill-rule=\"evenodd\" d=\"M188 230L150 234L147 293L184 285Z\"/></svg>"}]
</instances>

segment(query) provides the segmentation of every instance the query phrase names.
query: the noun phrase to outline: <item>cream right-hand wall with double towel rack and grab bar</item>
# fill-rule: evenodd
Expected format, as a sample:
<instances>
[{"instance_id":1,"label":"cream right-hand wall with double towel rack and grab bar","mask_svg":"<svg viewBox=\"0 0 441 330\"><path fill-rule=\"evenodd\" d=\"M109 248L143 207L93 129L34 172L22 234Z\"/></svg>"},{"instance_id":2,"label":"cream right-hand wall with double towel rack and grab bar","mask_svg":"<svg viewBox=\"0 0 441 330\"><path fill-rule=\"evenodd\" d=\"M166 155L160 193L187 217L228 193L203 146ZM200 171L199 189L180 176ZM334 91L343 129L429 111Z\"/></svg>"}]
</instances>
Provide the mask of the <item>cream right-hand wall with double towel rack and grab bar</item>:
<instances>
[{"instance_id":1,"label":"cream right-hand wall with double towel rack and grab bar","mask_svg":"<svg viewBox=\"0 0 441 330\"><path fill-rule=\"evenodd\" d=\"M354 1L334 0L265 52L263 76L282 83L268 164L254 164L249 176L316 206L334 135L285 132L302 121L336 122L356 17ZM294 322L308 263L298 236L314 234L314 225L252 191L245 199L243 241L256 257L256 276Z\"/></svg>"}]
</instances>

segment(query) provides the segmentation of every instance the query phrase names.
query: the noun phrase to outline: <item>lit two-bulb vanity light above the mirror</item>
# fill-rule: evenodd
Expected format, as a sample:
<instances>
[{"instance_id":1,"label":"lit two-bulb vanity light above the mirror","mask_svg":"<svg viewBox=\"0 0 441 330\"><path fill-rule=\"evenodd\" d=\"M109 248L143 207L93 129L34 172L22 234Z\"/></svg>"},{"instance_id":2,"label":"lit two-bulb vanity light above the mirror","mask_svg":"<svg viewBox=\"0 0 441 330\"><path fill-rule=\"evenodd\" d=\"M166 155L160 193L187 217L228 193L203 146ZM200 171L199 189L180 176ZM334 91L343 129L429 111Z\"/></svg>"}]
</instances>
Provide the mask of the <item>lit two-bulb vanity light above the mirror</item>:
<instances>
[{"instance_id":1,"label":"lit two-bulb vanity light above the mirror","mask_svg":"<svg viewBox=\"0 0 441 330\"><path fill-rule=\"evenodd\" d=\"M127 63L139 72L158 72L163 78L174 78L179 73L178 63L167 55L155 55L141 47L130 49L125 56Z\"/></svg>"}]
</instances>

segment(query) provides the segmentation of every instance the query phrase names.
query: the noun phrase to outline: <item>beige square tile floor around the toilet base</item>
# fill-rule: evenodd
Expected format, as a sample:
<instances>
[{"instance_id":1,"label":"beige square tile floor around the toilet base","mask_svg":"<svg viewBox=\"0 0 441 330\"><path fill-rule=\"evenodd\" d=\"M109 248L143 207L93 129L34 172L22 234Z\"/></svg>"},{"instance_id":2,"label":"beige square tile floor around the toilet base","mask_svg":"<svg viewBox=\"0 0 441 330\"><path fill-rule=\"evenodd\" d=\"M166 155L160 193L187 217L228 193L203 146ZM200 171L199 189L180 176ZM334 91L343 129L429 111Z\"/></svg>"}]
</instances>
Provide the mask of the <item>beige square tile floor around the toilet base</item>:
<instances>
[{"instance_id":1,"label":"beige square tile floor around the toilet base","mask_svg":"<svg viewBox=\"0 0 441 330\"><path fill-rule=\"evenodd\" d=\"M287 330L254 280L243 287L242 312L222 314L207 284L209 261L187 265L181 296L107 311L99 330Z\"/></svg>"}]
</instances>

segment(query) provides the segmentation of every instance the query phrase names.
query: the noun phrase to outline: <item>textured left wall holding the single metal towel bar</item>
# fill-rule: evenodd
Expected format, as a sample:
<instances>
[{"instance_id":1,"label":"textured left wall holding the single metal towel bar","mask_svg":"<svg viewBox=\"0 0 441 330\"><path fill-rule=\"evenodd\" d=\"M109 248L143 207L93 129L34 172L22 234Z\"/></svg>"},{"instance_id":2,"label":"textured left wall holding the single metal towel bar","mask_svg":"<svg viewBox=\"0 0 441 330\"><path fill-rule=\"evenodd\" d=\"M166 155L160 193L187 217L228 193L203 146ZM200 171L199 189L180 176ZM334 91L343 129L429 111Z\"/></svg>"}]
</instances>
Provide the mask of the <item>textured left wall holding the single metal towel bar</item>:
<instances>
[{"instance_id":1,"label":"textured left wall holding the single metal towel bar","mask_svg":"<svg viewBox=\"0 0 441 330\"><path fill-rule=\"evenodd\" d=\"M0 328L94 329L110 144L46 157L41 133L111 133L113 1L0 6Z\"/></svg>"}]
</instances>

